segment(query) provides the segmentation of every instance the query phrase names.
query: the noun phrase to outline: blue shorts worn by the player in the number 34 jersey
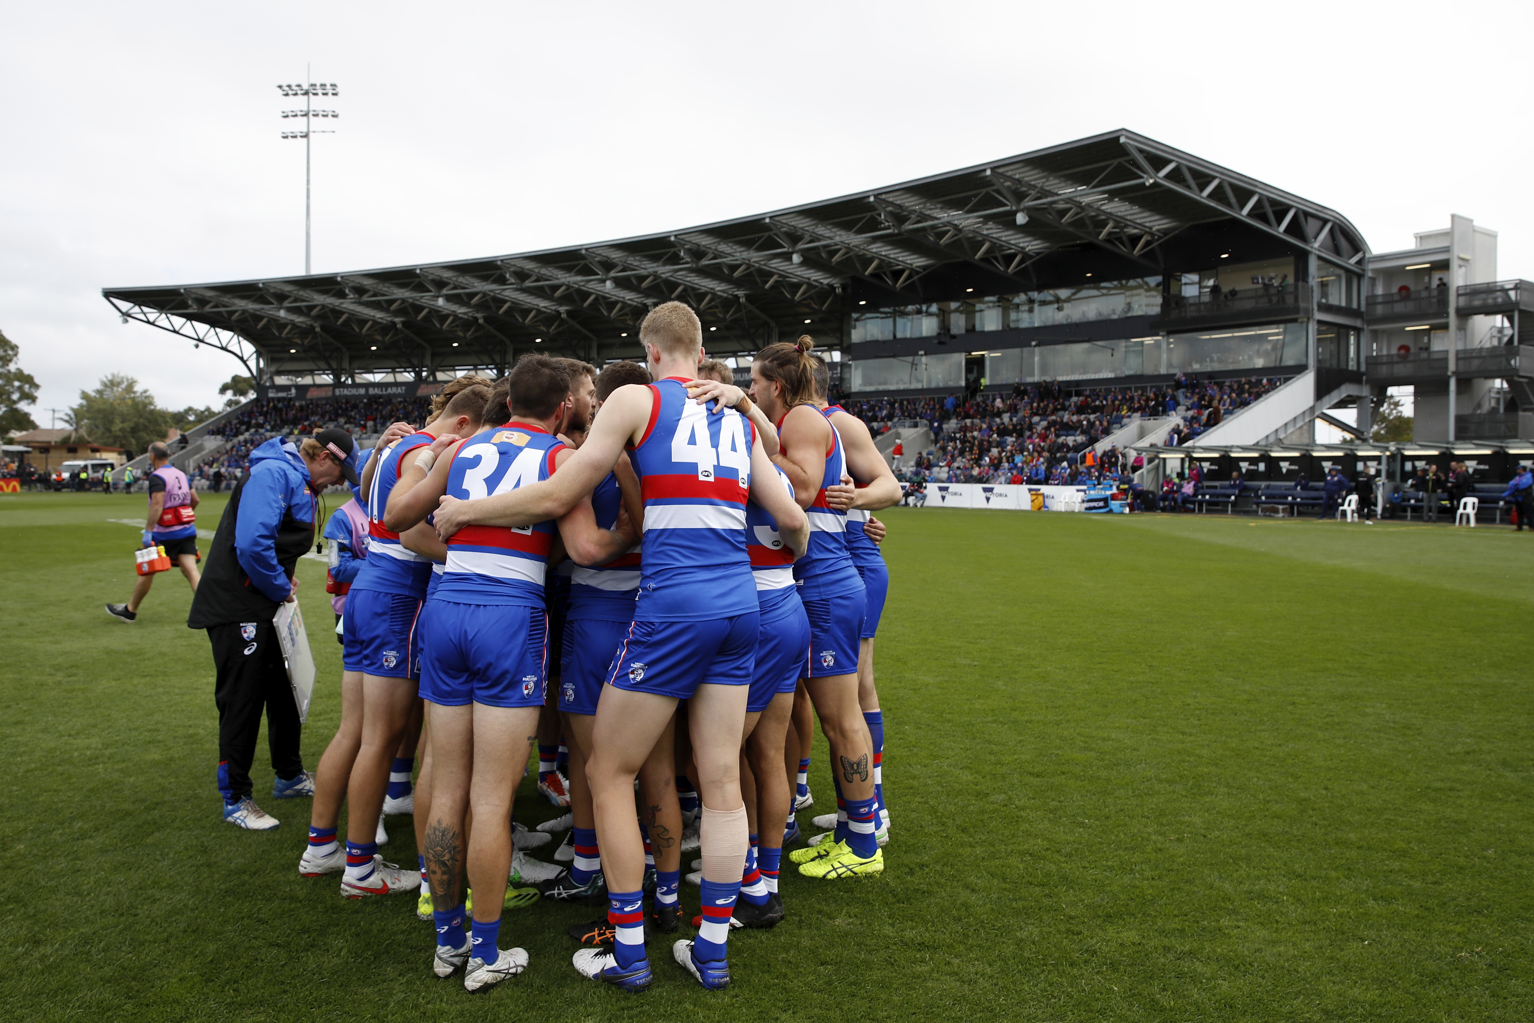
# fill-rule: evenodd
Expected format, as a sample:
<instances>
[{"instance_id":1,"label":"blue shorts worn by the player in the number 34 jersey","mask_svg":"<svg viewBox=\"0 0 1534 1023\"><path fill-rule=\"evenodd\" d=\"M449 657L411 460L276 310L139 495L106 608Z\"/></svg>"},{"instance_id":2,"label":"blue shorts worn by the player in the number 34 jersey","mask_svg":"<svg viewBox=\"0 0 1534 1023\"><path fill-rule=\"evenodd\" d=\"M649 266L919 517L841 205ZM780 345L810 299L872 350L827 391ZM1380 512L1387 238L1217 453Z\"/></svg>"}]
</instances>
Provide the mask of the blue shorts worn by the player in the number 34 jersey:
<instances>
[{"instance_id":1,"label":"blue shorts worn by the player in the number 34 jersey","mask_svg":"<svg viewBox=\"0 0 1534 1023\"><path fill-rule=\"evenodd\" d=\"M442 707L542 707L549 621L542 607L454 604L433 598L420 696Z\"/></svg>"}]
</instances>

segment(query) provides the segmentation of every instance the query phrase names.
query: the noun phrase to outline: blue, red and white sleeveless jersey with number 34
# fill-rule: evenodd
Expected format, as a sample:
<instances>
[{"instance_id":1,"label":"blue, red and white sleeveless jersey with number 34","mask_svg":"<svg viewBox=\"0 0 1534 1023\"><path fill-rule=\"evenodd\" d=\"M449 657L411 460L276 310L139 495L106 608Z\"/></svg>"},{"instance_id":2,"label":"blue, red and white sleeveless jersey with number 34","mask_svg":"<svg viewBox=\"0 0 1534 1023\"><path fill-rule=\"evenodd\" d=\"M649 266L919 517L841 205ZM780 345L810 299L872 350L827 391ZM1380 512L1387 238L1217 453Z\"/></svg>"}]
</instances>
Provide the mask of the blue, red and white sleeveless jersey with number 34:
<instances>
[{"instance_id":1,"label":"blue, red and white sleeveless jersey with number 34","mask_svg":"<svg viewBox=\"0 0 1534 1023\"><path fill-rule=\"evenodd\" d=\"M459 446L448 468L448 497L474 500L549 479L565 445L542 426L511 422ZM532 526L465 526L448 538L448 561L434 600L511 604L543 610L543 574L555 521Z\"/></svg>"}]
</instances>

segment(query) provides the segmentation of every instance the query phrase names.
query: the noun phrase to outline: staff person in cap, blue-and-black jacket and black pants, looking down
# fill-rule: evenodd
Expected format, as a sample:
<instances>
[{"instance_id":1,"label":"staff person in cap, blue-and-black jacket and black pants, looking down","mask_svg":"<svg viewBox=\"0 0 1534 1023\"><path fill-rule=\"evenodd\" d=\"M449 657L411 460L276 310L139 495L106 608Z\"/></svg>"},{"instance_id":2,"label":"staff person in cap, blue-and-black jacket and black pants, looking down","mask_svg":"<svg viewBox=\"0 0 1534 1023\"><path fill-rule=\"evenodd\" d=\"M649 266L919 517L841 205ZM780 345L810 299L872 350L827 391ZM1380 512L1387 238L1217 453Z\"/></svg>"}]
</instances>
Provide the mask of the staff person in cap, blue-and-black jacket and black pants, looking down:
<instances>
[{"instance_id":1,"label":"staff person in cap, blue-and-black jacket and black pants, looking down","mask_svg":"<svg viewBox=\"0 0 1534 1023\"><path fill-rule=\"evenodd\" d=\"M308 796L313 776L299 758L299 719L272 618L298 590L299 557L314 543L319 492L357 483L354 443L345 429L322 429L295 446L273 437L250 452L250 468L229 495L192 598L189 629L206 629L218 681L218 788L224 821L265 831L278 827L250 798L250 762L267 713L267 744L278 799Z\"/></svg>"}]
</instances>

